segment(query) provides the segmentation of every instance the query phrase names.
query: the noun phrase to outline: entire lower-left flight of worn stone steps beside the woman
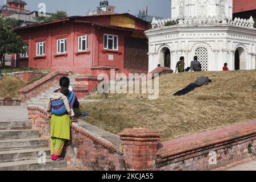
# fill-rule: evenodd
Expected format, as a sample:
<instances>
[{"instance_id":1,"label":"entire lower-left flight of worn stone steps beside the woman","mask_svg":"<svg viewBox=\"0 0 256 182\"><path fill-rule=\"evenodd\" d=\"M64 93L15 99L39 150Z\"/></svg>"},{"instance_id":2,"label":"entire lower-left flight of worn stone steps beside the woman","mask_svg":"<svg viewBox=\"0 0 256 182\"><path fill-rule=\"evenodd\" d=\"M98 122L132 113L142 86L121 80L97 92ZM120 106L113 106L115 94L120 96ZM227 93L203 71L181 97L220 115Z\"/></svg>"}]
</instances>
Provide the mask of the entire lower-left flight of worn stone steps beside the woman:
<instances>
[{"instance_id":1,"label":"entire lower-left flight of worn stone steps beside the woman","mask_svg":"<svg viewBox=\"0 0 256 182\"><path fill-rule=\"evenodd\" d=\"M46 154L46 163L39 164L42 153ZM67 168L67 161L52 161L50 153L48 139L40 138L39 131L32 130L29 121L0 121L0 171Z\"/></svg>"}]
</instances>

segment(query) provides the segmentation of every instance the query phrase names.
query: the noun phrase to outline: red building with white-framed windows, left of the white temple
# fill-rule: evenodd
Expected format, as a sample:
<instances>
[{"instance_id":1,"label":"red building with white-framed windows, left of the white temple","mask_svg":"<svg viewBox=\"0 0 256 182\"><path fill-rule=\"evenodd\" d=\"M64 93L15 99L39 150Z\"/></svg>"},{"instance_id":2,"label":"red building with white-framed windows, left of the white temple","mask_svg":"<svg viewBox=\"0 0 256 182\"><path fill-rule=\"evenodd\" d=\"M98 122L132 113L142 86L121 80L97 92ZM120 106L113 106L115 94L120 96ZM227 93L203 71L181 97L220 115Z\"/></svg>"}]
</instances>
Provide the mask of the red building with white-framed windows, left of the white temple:
<instances>
[{"instance_id":1,"label":"red building with white-framed windows, left of the white temple","mask_svg":"<svg viewBox=\"0 0 256 182\"><path fill-rule=\"evenodd\" d=\"M19 67L50 68L96 76L147 73L148 23L130 14L73 16L15 28L28 43Z\"/></svg>"}]
</instances>

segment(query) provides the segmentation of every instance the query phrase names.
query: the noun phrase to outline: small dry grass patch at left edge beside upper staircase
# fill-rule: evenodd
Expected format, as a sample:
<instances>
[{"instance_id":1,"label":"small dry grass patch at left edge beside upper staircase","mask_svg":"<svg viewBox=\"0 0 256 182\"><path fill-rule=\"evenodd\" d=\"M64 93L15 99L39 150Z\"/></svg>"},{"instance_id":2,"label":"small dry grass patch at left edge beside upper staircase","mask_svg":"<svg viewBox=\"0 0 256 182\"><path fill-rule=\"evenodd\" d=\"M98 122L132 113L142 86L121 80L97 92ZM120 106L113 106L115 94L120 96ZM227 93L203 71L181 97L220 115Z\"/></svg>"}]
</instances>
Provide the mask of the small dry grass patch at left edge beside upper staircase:
<instances>
[{"instance_id":1,"label":"small dry grass patch at left edge beside upper staircase","mask_svg":"<svg viewBox=\"0 0 256 182\"><path fill-rule=\"evenodd\" d=\"M26 82L15 76L0 79L0 98L18 97L18 90L26 86Z\"/></svg>"}]
</instances>

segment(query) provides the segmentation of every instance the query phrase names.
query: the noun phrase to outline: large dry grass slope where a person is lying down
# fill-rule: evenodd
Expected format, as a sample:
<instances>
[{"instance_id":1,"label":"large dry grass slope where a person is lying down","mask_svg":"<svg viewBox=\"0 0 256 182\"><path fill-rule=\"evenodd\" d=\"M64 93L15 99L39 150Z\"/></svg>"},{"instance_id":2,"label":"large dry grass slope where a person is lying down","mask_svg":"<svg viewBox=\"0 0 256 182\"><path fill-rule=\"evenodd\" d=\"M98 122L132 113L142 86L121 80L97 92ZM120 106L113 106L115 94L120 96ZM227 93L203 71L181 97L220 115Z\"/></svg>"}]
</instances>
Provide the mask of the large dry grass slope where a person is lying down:
<instances>
[{"instance_id":1,"label":"large dry grass slope where a person is lying down","mask_svg":"<svg viewBox=\"0 0 256 182\"><path fill-rule=\"evenodd\" d=\"M177 90L199 76L213 80L191 93L174 97ZM200 72L163 75L159 78L158 100L140 94L112 94L90 97L98 102L82 104L84 121L118 134L131 127L148 127L173 139L256 118L256 71ZM144 96L143 96L144 97Z\"/></svg>"}]
</instances>

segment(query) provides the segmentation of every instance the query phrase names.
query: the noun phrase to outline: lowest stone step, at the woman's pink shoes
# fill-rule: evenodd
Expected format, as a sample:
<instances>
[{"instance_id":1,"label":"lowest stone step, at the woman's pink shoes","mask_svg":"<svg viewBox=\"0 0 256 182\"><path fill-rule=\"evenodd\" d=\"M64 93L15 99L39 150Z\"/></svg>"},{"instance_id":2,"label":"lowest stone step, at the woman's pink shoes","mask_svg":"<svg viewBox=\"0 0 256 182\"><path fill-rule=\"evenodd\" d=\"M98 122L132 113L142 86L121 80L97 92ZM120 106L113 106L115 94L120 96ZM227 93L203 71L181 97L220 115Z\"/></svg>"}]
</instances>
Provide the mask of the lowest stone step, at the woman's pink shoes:
<instances>
[{"instance_id":1,"label":"lowest stone step, at the woman's pink shoes","mask_svg":"<svg viewBox=\"0 0 256 182\"><path fill-rule=\"evenodd\" d=\"M46 159L46 164L39 164L36 160L0 163L0 171L52 171L67 168L67 161L53 161Z\"/></svg>"}]
</instances>

